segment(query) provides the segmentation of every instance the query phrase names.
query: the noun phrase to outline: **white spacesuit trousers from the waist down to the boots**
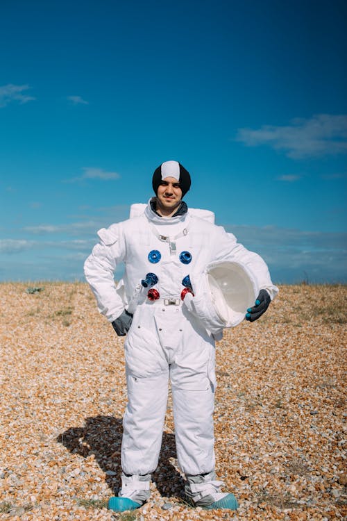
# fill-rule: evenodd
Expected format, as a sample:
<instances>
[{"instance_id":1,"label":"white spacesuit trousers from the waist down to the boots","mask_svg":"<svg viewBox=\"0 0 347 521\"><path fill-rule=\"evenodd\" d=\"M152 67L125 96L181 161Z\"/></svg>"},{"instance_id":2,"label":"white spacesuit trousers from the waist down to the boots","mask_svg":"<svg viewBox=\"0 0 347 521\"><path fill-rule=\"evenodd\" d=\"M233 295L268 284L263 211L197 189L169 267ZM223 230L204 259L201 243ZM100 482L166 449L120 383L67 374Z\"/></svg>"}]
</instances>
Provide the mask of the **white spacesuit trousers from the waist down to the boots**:
<instances>
[{"instance_id":1,"label":"white spacesuit trousers from the waist down to the boots","mask_svg":"<svg viewBox=\"0 0 347 521\"><path fill-rule=\"evenodd\" d=\"M180 306L139 306L125 342L128 404L121 466L149 474L158 465L171 379L178 465L214 469L214 340Z\"/></svg>"}]
</instances>

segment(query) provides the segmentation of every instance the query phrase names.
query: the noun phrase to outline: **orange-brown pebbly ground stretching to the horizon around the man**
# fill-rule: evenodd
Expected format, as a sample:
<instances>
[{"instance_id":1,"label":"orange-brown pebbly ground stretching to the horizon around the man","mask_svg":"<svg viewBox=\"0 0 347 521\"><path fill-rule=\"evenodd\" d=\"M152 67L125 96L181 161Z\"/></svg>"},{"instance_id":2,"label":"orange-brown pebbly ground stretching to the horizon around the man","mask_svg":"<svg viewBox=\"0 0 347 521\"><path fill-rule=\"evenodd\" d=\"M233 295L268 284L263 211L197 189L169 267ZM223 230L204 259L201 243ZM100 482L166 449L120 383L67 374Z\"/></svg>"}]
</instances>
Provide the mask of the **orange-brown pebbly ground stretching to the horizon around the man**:
<instances>
[{"instance_id":1,"label":"orange-brown pebbly ground stretching to the horizon around the man","mask_svg":"<svg viewBox=\"0 0 347 521\"><path fill-rule=\"evenodd\" d=\"M217 344L217 474L239 499L235 515L185 504L171 399L151 500L107 511L121 471L124 339L85 284L3 283L0 295L0 520L347 515L346 286L281 286L260 320Z\"/></svg>"}]
</instances>

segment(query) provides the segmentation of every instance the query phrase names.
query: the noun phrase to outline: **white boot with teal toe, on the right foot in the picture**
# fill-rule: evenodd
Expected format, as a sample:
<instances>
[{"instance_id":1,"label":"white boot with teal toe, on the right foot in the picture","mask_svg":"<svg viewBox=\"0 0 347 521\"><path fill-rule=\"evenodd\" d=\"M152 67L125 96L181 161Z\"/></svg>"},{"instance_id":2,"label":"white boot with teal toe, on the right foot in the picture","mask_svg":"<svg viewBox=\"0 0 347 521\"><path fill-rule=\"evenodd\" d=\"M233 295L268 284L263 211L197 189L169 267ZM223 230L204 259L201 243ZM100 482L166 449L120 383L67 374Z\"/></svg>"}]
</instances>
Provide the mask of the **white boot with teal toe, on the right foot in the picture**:
<instances>
[{"instance_id":1,"label":"white boot with teal toe, on the right foot in the picture","mask_svg":"<svg viewBox=\"0 0 347 521\"><path fill-rule=\"evenodd\" d=\"M233 494L221 492L223 481L217 481L214 470L209 474L187 476L185 494L193 506L201 506L212 510L214 508L228 508L236 510L237 500Z\"/></svg>"}]
</instances>

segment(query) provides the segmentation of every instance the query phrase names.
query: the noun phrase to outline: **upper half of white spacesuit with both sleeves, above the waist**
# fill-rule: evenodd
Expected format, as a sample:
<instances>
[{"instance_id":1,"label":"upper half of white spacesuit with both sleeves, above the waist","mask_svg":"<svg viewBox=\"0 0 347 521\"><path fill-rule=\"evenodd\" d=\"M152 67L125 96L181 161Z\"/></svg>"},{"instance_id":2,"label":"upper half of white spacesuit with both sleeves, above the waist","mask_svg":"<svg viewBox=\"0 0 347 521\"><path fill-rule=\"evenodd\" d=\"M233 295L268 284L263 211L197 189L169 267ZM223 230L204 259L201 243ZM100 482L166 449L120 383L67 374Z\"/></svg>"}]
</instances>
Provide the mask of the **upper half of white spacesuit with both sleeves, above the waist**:
<instances>
[{"instance_id":1,"label":"upper half of white spacesuit with both sleeves, above the waist","mask_svg":"<svg viewBox=\"0 0 347 521\"><path fill-rule=\"evenodd\" d=\"M221 226L189 211L176 217L160 217L149 204L142 215L112 224L98 234L101 242L87 259L85 274L99 311L111 322L124 308L134 313L137 306L153 304L148 298L149 288L141 284L148 273L158 278L151 287L158 291L159 299L180 299L185 288L183 280L189 274L194 273L196 279L212 261L237 258L251 270L259 288L266 288L270 295L275 288L260 256L237 244ZM116 290L113 272L121 261L125 272Z\"/></svg>"}]
</instances>

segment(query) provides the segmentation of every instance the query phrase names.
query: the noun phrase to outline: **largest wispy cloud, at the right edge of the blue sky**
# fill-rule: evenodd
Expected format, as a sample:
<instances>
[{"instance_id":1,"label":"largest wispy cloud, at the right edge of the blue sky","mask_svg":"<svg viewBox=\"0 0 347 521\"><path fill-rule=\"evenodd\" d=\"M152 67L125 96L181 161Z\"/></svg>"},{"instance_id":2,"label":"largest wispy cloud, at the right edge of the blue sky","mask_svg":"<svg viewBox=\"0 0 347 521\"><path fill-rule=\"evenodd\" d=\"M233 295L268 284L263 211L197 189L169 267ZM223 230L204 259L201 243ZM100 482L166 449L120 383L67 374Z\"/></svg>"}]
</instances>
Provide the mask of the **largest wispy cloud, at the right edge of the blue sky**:
<instances>
[{"instance_id":1,"label":"largest wispy cloud, at the right edge of the blue sky","mask_svg":"<svg viewBox=\"0 0 347 521\"><path fill-rule=\"evenodd\" d=\"M267 144L293 159L346 153L347 115L318 114L310 119L292 119L287 126L239 129L236 140L248 147Z\"/></svg>"}]
</instances>

